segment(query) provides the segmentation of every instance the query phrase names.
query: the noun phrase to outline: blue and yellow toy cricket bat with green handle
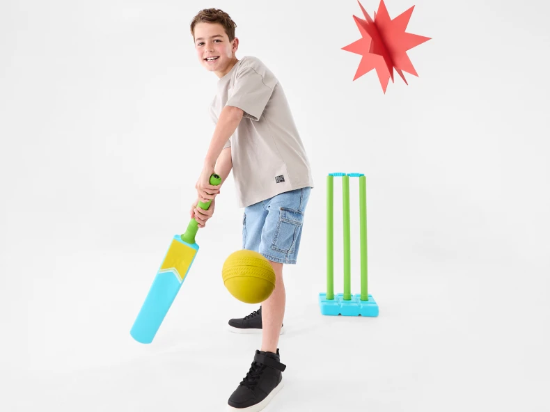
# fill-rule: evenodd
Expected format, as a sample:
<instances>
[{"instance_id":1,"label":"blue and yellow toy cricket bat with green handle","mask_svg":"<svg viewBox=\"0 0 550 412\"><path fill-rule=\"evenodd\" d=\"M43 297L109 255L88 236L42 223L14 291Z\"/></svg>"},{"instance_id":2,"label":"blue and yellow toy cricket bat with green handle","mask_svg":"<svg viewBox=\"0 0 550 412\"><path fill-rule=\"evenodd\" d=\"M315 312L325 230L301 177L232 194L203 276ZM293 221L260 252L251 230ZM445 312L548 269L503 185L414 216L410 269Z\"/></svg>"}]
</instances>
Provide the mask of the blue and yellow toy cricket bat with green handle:
<instances>
[{"instance_id":1,"label":"blue and yellow toy cricket bat with green handle","mask_svg":"<svg viewBox=\"0 0 550 412\"><path fill-rule=\"evenodd\" d=\"M219 175L210 176L210 184L217 186L220 183ZM198 207L207 210L210 200L206 203L198 202ZM130 331L136 341L151 343L155 338L197 255L197 231L198 222L193 218L183 235L173 237Z\"/></svg>"}]
</instances>

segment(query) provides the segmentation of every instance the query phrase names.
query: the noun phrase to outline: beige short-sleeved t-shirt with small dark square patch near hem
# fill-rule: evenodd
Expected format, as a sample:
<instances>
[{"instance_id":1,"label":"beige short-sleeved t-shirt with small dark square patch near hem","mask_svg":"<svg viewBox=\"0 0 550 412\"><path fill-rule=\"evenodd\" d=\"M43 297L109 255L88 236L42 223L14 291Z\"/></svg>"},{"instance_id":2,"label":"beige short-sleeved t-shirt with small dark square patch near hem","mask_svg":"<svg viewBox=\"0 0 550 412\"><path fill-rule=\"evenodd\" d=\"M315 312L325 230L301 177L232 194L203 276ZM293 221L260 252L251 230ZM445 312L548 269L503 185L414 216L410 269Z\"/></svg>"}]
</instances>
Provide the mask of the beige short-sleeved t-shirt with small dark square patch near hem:
<instances>
[{"instance_id":1,"label":"beige short-sleeved t-shirt with small dark square patch near hem","mask_svg":"<svg viewBox=\"0 0 550 412\"><path fill-rule=\"evenodd\" d=\"M283 88L258 58L243 57L219 79L210 106L214 124L224 106L244 111L225 145L231 147L239 207L313 187L308 157Z\"/></svg>"}]
</instances>

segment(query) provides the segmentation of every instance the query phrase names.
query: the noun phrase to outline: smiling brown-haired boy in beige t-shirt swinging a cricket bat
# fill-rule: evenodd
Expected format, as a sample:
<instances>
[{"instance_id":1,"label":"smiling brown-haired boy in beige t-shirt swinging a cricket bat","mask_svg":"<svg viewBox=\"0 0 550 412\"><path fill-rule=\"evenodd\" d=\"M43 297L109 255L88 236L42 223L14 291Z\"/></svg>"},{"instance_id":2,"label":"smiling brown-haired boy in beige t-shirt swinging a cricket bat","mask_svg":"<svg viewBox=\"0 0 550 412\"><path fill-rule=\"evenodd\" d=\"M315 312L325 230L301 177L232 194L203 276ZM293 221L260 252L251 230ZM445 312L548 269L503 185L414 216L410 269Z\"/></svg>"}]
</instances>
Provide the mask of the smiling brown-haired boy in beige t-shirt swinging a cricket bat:
<instances>
[{"instance_id":1,"label":"smiling brown-haired boy in beige t-shirt swinging a cricket bat","mask_svg":"<svg viewBox=\"0 0 550 412\"><path fill-rule=\"evenodd\" d=\"M236 58L235 27L227 13L213 8L201 10L191 22L198 61L219 78L210 106L216 127L191 217L205 226L219 194L219 187L209 184L210 175L215 171L223 185L233 169L239 206L244 207L242 247L264 255L276 275L275 289L260 310L230 320L240 329L262 331L261 350L228 400L230 411L256 412L282 387L285 365L277 346L285 312L283 264L297 262L313 178L281 85L258 58ZM198 200L212 204L203 211L196 207Z\"/></svg>"}]
</instances>

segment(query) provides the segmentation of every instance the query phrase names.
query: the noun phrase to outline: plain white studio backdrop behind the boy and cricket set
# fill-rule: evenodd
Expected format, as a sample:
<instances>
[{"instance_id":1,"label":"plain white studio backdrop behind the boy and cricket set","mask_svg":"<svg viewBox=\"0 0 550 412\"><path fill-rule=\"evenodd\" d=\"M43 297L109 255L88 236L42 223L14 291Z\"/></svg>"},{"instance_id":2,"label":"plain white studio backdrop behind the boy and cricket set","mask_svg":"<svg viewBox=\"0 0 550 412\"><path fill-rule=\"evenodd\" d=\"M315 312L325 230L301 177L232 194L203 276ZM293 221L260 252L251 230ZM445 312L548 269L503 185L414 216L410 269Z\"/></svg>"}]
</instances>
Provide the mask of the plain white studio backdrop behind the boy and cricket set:
<instances>
[{"instance_id":1,"label":"plain white studio backdrop behind the boy and cricket set","mask_svg":"<svg viewBox=\"0 0 550 412\"><path fill-rule=\"evenodd\" d=\"M356 1L3 1L0 409L221 411L259 349L225 330L256 308L221 282L241 247L231 178L155 342L129 336L213 132L217 77L189 33L207 7L281 81L314 172L269 411L549 408L548 6L386 2L414 4L407 31L432 40L384 95L341 49L360 38ZM320 315L330 172L367 175L377 318Z\"/></svg>"}]
</instances>

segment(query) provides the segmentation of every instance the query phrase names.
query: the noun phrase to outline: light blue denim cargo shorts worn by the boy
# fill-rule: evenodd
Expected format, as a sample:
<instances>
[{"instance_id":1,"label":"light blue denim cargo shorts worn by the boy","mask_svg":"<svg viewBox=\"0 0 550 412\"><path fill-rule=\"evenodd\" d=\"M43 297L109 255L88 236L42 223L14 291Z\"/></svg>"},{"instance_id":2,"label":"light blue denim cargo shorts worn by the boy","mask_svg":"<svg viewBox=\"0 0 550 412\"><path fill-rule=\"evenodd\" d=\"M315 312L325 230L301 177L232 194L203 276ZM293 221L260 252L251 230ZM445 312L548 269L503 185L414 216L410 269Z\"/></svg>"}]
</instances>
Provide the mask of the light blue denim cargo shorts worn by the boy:
<instances>
[{"instance_id":1,"label":"light blue denim cargo shorts worn by the boy","mask_svg":"<svg viewBox=\"0 0 550 412\"><path fill-rule=\"evenodd\" d=\"M295 264L310 192L295 189L245 207L242 247L272 262Z\"/></svg>"}]
</instances>

